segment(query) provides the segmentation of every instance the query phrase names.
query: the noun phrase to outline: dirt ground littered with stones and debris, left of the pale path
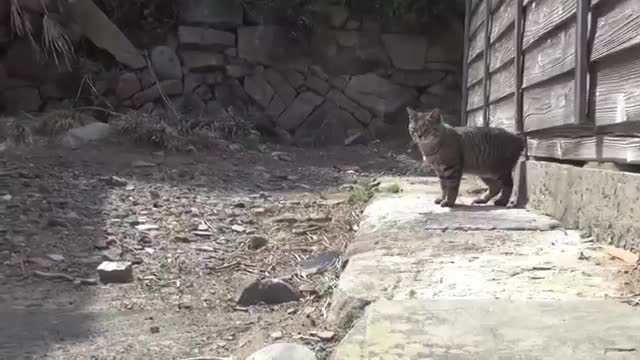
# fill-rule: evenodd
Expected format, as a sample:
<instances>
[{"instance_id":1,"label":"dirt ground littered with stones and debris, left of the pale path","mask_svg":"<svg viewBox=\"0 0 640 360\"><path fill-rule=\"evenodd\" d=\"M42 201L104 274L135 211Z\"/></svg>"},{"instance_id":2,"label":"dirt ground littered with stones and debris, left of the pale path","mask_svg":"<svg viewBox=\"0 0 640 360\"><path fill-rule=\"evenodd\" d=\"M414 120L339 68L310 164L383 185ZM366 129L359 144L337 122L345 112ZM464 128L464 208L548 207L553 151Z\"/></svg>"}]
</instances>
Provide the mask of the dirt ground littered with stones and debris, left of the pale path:
<instances>
[{"instance_id":1,"label":"dirt ground littered with stones and debris, left of the pale path","mask_svg":"<svg viewBox=\"0 0 640 360\"><path fill-rule=\"evenodd\" d=\"M243 359L276 341L326 357L343 335L325 323L340 259L313 275L304 260L345 248L354 185L415 173L405 150L0 153L0 358ZM134 281L96 283L103 260L132 261ZM264 277L304 298L239 306Z\"/></svg>"}]
</instances>

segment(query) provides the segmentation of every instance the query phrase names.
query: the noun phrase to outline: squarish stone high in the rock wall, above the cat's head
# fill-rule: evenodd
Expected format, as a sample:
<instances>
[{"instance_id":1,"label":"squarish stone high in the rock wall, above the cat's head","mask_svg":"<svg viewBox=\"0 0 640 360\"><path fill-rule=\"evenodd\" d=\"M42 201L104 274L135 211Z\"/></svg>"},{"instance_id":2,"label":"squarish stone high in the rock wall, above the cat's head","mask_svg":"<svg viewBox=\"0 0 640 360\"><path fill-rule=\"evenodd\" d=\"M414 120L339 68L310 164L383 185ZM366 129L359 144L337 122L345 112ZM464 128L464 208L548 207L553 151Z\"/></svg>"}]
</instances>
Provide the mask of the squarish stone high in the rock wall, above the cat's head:
<instances>
[{"instance_id":1,"label":"squarish stone high in the rock wall, above the cat's head","mask_svg":"<svg viewBox=\"0 0 640 360\"><path fill-rule=\"evenodd\" d=\"M421 70L424 67L427 56L427 41L424 37L407 34L384 34L382 42L396 68Z\"/></svg>"}]
</instances>

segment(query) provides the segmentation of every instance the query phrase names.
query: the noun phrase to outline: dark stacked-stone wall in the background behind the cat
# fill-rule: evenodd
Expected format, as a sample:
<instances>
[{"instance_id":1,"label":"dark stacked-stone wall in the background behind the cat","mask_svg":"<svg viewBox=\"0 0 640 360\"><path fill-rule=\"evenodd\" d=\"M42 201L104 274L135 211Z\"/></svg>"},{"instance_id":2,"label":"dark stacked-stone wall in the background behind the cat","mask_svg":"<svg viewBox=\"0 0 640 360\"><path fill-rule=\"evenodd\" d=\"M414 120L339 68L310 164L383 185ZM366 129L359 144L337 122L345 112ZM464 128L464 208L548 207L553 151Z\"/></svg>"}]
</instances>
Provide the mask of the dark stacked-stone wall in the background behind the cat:
<instances>
[{"instance_id":1,"label":"dark stacked-stone wall in the background behind the cat","mask_svg":"<svg viewBox=\"0 0 640 360\"><path fill-rule=\"evenodd\" d=\"M58 86L72 76L50 65L25 64L29 42L3 37L4 7L0 79L12 84L2 92L5 109L42 111L73 96L78 79ZM260 113L262 126L299 145L380 137L394 124L405 126L406 106L439 106L457 124L462 40L456 27L410 33L402 24L382 24L333 6L316 9L313 31L301 35L270 23L268 16L246 13L235 0L183 0L177 7L175 34L146 49L152 69L139 61L125 64L96 86L118 110ZM31 68L49 76L34 76Z\"/></svg>"}]
</instances>

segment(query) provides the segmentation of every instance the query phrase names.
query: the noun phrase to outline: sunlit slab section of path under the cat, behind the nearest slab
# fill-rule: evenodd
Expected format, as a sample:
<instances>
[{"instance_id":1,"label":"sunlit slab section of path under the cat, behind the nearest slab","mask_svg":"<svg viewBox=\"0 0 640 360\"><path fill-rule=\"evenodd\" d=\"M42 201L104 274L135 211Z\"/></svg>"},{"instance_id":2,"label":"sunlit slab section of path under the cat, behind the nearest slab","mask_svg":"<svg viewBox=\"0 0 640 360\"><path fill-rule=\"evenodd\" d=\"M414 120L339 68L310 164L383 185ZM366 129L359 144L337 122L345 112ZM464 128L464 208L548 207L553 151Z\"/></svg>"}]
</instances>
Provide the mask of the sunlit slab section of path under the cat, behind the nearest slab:
<instances>
[{"instance_id":1,"label":"sunlit slab section of path under the cat, behind the nearest slab","mask_svg":"<svg viewBox=\"0 0 640 360\"><path fill-rule=\"evenodd\" d=\"M347 249L349 262L328 317L339 327L348 328L380 299L620 295L609 270L581 260L589 244L577 232L555 229L559 223L554 219L492 206L443 209L433 204L440 191L436 181L391 181L402 192L373 199Z\"/></svg>"}]
</instances>

